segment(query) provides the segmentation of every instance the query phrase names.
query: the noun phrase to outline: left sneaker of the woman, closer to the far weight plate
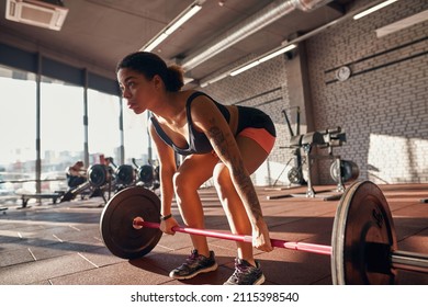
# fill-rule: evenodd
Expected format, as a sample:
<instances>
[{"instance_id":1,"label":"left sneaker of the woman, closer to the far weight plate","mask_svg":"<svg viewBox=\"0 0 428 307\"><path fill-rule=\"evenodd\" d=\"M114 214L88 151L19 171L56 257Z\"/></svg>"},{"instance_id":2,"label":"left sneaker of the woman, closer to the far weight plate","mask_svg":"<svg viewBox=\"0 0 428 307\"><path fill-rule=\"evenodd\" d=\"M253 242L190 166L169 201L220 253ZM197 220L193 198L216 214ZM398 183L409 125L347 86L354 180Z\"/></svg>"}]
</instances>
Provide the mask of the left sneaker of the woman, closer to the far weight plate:
<instances>
[{"instance_id":1,"label":"left sneaker of the woman, closer to the far weight plate","mask_svg":"<svg viewBox=\"0 0 428 307\"><path fill-rule=\"evenodd\" d=\"M200 273L207 273L215 271L216 269L217 263L215 262L213 251L210 251L210 257L206 258L205 255L199 254L198 250L193 250L185 260L185 263L172 270L169 273L169 276L176 280L188 280L196 276Z\"/></svg>"}]
</instances>

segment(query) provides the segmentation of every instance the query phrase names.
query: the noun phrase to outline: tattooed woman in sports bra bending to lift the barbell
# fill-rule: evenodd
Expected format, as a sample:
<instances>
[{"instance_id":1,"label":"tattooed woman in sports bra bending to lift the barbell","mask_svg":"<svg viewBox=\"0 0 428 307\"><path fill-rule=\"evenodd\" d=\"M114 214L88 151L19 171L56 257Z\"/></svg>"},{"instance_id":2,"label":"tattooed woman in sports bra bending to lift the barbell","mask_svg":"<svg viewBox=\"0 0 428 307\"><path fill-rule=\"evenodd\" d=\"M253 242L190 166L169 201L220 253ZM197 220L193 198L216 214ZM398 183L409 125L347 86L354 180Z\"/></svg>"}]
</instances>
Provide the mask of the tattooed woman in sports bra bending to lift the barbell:
<instances>
[{"instance_id":1,"label":"tattooed woman in sports bra bending to lift the barbell","mask_svg":"<svg viewBox=\"0 0 428 307\"><path fill-rule=\"evenodd\" d=\"M269 230L249 174L266 160L275 139L274 125L256 109L222 105L202 92L182 91L178 66L167 67L155 54L126 56L117 80L136 114L151 111L149 127L160 163L160 229L173 235L173 193L184 224L204 228L198 189L213 177L215 189L234 234L252 235L251 243L237 242L235 272L225 284L262 284L264 276L252 247L271 251ZM177 168L174 152L185 158ZM194 250L171 271L178 280L217 269L205 237L191 236Z\"/></svg>"}]
</instances>

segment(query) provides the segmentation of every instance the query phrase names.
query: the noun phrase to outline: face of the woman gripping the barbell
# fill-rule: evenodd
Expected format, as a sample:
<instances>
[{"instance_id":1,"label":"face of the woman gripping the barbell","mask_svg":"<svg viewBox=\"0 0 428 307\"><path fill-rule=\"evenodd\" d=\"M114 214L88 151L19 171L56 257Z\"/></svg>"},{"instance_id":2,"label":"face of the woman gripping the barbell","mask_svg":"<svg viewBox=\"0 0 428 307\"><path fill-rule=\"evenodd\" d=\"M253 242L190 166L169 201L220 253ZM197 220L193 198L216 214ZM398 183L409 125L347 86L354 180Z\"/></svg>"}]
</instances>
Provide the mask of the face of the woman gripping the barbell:
<instances>
[{"instance_id":1,"label":"face of the woman gripping the barbell","mask_svg":"<svg viewBox=\"0 0 428 307\"><path fill-rule=\"evenodd\" d=\"M156 96L156 76L151 80L133 69L122 68L117 71L117 81L122 96L135 114L140 114L153 105Z\"/></svg>"}]
</instances>

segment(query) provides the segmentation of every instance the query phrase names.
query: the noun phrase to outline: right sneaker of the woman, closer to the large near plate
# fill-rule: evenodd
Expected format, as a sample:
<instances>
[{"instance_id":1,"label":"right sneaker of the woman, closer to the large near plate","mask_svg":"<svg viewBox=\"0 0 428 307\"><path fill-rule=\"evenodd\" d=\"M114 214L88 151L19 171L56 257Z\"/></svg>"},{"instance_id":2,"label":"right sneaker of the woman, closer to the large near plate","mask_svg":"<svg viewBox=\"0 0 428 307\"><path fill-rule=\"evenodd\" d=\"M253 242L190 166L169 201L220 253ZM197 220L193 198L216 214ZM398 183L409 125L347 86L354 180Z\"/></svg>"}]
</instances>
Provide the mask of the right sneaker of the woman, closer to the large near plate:
<instances>
[{"instance_id":1,"label":"right sneaker of the woman, closer to the large near plate","mask_svg":"<svg viewBox=\"0 0 428 307\"><path fill-rule=\"evenodd\" d=\"M235 260L235 272L225 282L225 285L261 285L264 283L264 275L261 272L260 263L256 261L256 266L252 266L244 259Z\"/></svg>"}]
</instances>

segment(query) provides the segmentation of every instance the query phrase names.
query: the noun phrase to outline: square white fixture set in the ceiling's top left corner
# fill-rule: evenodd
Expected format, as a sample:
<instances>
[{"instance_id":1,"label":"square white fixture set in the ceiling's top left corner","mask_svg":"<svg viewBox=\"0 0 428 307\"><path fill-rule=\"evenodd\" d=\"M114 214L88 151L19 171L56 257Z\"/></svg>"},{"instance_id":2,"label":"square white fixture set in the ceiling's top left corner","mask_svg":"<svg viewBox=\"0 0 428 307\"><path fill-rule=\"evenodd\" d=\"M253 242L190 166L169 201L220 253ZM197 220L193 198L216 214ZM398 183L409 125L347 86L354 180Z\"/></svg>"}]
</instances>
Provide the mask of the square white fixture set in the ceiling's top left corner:
<instances>
[{"instance_id":1,"label":"square white fixture set in the ceiling's top left corner","mask_svg":"<svg viewBox=\"0 0 428 307\"><path fill-rule=\"evenodd\" d=\"M54 4L55 3L55 4ZM68 9L63 1L7 0L5 19L59 31Z\"/></svg>"}]
</instances>

